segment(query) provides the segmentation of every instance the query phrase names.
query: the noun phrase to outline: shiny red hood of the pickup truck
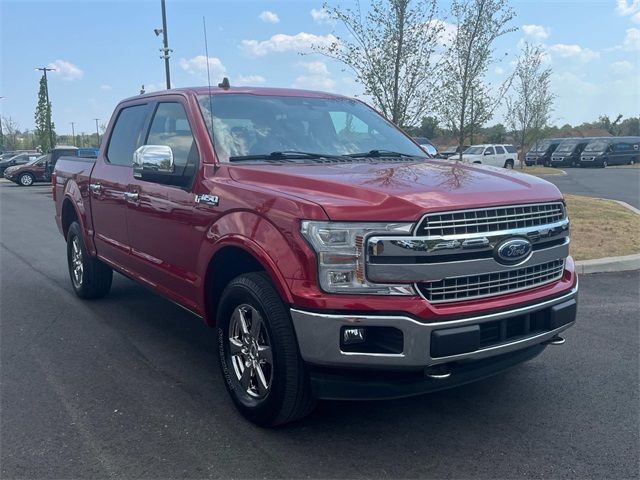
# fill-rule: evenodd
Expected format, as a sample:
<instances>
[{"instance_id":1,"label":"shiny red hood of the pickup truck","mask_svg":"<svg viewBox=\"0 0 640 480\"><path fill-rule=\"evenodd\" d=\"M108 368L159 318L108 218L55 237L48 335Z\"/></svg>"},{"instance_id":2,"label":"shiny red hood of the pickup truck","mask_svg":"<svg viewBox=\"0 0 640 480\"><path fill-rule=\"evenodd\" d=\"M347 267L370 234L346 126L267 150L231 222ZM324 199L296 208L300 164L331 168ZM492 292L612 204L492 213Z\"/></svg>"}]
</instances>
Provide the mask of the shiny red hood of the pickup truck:
<instances>
[{"instance_id":1,"label":"shiny red hood of the pickup truck","mask_svg":"<svg viewBox=\"0 0 640 480\"><path fill-rule=\"evenodd\" d=\"M231 177L320 205L331 220L415 221L426 212L552 201L551 183L459 162L233 165Z\"/></svg>"}]
</instances>

